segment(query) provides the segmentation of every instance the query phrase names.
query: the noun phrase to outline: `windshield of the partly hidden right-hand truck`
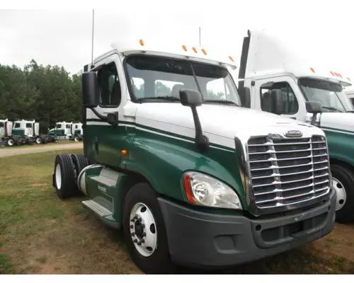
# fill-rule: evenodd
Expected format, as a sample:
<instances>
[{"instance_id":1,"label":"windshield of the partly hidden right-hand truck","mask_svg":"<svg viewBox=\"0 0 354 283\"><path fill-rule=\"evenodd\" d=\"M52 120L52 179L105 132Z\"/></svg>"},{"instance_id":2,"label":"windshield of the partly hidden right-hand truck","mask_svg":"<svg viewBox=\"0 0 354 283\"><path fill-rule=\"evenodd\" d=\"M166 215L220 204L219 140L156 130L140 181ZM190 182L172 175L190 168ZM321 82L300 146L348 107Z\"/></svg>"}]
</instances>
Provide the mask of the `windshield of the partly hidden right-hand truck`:
<instances>
[{"instance_id":1,"label":"windshield of the partly hidden right-hand truck","mask_svg":"<svg viewBox=\"0 0 354 283\"><path fill-rule=\"evenodd\" d=\"M299 79L299 85L305 98L321 103L324 112L351 112L354 110L343 87L338 83L316 79Z\"/></svg>"}]
</instances>

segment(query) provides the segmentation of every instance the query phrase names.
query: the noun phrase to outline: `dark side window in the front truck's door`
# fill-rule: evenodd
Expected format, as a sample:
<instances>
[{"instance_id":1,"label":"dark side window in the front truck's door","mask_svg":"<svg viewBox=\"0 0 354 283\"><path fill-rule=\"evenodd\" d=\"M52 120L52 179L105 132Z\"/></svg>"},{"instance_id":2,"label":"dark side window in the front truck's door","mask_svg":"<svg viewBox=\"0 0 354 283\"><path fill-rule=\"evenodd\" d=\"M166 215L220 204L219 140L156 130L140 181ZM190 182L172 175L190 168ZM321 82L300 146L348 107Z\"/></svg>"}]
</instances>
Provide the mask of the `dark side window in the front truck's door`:
<instances>
[{"instance_id":1,"label":"dark side window in the front truck's door","mask_svg":"<svg viewBox=\"0 0 354 283\"><path fill-rule=\"evenodd\" d=\"M98 70L99 103L102 108L113 108L120 105L122 94L115 63L110 63Z\"/></svg>"}]
</instances>

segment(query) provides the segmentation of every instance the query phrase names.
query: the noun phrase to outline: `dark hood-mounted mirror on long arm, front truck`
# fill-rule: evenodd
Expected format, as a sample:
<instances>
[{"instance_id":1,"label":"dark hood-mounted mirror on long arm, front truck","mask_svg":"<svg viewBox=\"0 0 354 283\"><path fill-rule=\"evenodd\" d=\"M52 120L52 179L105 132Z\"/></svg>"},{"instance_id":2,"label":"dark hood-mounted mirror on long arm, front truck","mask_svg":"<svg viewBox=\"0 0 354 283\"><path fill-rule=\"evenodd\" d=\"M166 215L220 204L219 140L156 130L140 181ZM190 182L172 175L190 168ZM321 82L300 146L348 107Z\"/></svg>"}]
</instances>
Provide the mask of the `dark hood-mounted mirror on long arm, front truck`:
<instances>
[{"instance_id":1,"label":"dark hood-mounted mirror on long arm, front truck","mask_svg":"<svg viewBox=\"0 0 354 283\"><path fill-rule=\"evenodd\" d=\"M189 106L192 110L195 127L195 145L200 151L207 151L209 139L202 134L202 125L197 112L197 106L202 105L202 93L193 89L180 89L179 97L183 106Z\"/></svg>"}]
</instances>

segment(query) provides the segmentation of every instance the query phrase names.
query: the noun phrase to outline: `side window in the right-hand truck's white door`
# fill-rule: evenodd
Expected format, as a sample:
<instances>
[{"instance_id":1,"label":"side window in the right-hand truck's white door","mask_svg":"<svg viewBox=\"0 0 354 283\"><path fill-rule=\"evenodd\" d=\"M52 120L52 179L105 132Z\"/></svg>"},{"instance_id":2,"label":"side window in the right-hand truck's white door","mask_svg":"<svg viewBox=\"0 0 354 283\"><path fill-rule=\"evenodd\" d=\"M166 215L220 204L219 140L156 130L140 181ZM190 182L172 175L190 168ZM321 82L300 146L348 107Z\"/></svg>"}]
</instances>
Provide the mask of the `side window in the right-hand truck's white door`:
<instances>
[{"instance_id":1,"label":"side window in the right-hand truck's white door","mask_svg":"<svg viewBox=\"0 0 354 283\"><path fill-rule=\"evenodd\" d=\"M299 110L299 103L289 83L282 81L271 86L265 83L261 86L261 108L263 111L272 112L272 99L270 93L273 89L282 91L282 114L293 115Z\"/></svg>"}]
</instances>

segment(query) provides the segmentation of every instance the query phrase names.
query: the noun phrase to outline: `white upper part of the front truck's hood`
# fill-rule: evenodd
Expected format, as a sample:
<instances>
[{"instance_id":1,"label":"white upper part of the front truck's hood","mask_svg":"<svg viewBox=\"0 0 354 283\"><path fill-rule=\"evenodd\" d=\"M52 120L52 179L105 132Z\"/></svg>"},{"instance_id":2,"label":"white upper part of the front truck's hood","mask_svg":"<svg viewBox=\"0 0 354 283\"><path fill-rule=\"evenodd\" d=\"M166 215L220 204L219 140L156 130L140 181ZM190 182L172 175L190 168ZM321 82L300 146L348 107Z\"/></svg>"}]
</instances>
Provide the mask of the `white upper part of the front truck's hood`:
<instances>
[{"instance_id":1,"label":"white upper part of the front truck's hood","mask_svg":"<svg viewBox=\"0 0 354 283\"><path fill-rule=\"evenodd\" d=\"M323 132L304 122L268 112L229 105L203 104L197 108L202 131L210 139L234 139L235 135L284 133L285 129ZM165 132L195 137L192 110L180 103L142 103L136 112L136 123ZM210 140L212 142L212 140Z\"/></svg>"}]
</instances>

